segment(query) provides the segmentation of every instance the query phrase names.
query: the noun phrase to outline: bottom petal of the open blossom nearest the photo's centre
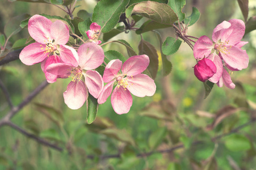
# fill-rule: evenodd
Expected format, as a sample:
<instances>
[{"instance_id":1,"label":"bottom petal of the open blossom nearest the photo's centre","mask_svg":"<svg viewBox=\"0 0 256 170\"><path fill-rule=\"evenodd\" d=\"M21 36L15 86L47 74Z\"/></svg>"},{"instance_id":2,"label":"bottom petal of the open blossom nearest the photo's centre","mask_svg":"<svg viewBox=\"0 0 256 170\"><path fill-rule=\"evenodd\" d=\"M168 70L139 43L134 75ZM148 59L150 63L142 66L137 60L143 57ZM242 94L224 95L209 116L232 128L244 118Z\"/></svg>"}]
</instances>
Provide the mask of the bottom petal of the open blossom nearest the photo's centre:
<instances>
[{"instance_id":1,"label":"bottom petal of the open blossom nearest the photo's centre","mask_svg":"<svg viewBox=\"0 0 256 170\"><path fill-rule=\"evenodd\" d=\"M111 95L111 104L117 114L128 113L132 106L132 95L123 86L116 86Z\"/></svg>"}]
</instances>

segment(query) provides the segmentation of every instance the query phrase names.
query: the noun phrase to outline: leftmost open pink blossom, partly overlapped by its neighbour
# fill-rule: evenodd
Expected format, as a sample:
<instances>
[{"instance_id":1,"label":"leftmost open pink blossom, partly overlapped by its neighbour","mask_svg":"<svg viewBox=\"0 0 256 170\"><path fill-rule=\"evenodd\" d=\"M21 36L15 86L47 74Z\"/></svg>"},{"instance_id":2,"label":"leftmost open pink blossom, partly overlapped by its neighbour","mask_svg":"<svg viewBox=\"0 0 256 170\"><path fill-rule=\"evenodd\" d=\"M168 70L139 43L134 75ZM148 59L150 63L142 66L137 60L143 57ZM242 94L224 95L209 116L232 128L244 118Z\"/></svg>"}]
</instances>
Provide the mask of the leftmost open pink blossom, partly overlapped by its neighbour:
<instances>
[{"instance_id":1,"label":"leftmost open pink blossom, partly overlapped by its neighbour","mask_svg":"<svg viewBox=\"0 0 256 170\"><path fill-rule=\"evenodd\" d=\"M77 52L65 45L69 40L69 28L61 20L52 23L41 15L33 15L28 20L28 32L36 40L26 46L19 55L26 65L41 63L42 70L49 83L56 81L57 76L46 73L46 67L51 63L65 62L77 65Z\"/></svg>"}]
</instances>

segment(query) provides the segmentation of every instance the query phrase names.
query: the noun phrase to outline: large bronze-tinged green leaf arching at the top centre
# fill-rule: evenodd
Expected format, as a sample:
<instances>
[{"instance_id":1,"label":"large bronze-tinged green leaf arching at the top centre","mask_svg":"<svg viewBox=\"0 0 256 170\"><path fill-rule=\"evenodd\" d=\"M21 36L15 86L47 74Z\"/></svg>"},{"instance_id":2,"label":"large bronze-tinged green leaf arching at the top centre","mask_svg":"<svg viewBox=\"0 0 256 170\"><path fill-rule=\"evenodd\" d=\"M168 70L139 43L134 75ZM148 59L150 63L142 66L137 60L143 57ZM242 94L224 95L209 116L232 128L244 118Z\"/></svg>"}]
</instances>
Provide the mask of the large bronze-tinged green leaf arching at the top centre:
<instances>
[{"instance_id":1,"label":"large bronze-tinged green leaf arching at the top centre","mask_svg":"<svg viewBox=\"0 0 256 170\"><path fill-rule=\"evenodd\" d=\"M178 20L175 12L164 3L153 1L140 2L129 6L125 11L127 18L131 15L141 15L153 20L154 22L171 25Z\"/></svg>"}]
</instances>

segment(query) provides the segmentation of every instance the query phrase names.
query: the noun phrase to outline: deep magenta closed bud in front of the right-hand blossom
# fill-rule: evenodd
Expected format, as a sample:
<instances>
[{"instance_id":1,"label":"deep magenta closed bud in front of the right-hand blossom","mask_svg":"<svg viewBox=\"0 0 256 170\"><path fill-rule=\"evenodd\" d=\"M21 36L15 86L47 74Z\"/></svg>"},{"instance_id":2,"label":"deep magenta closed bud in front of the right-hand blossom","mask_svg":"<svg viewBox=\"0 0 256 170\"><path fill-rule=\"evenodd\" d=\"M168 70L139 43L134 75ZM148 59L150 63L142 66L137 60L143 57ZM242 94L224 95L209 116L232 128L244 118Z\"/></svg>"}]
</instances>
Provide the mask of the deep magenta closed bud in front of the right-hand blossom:
<instances>
[{"instance_id":1,"label":"deep magenta closed bud in front of the right-hand blossom","mask_svg":"<svg viewBox=\"0 0 256 170\"><path fill-rule=\"evenodd\" d=\"M196 78L201 82L205 82L215 74L217 71L215 64L207 58L201 59L194 67Z\"/></svg>"}]
</instances>

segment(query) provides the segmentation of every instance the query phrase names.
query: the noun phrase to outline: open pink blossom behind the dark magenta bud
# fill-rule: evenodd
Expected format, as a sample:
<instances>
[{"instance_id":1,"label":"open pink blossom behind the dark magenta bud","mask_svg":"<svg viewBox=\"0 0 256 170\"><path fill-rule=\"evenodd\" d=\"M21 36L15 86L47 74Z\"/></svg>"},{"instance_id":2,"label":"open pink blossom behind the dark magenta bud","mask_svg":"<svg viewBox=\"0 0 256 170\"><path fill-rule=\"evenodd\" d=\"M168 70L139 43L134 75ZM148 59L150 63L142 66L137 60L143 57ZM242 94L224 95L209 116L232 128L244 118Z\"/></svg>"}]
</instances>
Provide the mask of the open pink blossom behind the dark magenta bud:
<instances>
[{"instance_id":1,"label":"open pink blossom behind the dark magenta bud","mask_svg":"<svg viewBox=\"0 0 256 170\"><path fill-rule=\"evenodd\" d=\"M212 40L207 36L202 36L196 41L194 46L194 56L196 59L208 58L215 63L217 68L209 80L213 83L219 82L226 69L238 71L246 69L249 63L249 57L246 50L241 47L247 42L241 41L245 33L245 23L240 19L231 19L224 21L213 29ZM225 73L226 75L226 73Z\"/></svg>"}]
</instances>

